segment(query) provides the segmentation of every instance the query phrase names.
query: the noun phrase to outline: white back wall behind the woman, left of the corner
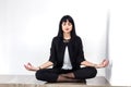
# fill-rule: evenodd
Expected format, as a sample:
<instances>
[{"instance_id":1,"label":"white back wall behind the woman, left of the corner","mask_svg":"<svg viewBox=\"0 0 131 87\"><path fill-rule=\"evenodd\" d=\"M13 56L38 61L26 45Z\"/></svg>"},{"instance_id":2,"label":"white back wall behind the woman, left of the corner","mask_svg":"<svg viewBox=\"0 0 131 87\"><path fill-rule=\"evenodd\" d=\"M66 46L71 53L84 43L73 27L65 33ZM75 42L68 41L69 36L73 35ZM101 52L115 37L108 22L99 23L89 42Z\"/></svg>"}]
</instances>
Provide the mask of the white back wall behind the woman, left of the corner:
<instances>
[{"instance_id":1,"label":"white back wall behind the woman, left of the corner","mask_svg":"<svg viewBox=\"0 0 131 87\"><path fill-rule=\"evenodd\" d=\"M33 74L23 64L46 62L64 14L74 18L85 58L102 62L107 57L107 10L105 0L0 0L0 74ZM105 76L105 70L98 75Z\"/></svg>"}]
</instances>

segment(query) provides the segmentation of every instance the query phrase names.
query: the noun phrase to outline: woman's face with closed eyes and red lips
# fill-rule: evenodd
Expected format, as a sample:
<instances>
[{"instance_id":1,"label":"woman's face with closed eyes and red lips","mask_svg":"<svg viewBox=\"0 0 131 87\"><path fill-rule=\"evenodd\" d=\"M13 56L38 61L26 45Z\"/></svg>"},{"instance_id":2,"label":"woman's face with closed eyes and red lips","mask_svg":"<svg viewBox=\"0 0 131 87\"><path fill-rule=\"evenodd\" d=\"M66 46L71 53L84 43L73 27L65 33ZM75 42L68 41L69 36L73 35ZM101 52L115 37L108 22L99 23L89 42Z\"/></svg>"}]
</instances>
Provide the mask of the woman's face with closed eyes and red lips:
<instances>
[{"instance_id":1,"label":"woman's face with closed eyes and red lips","mask_svg":"<svg viewBox=\"0 0 131 87\"><path fill-rule=\"evenodd\" d=\"M71 33L72 24L67 20L67 22L62 22L62 30L63 33Z\"/></svg>"}]
</instances>

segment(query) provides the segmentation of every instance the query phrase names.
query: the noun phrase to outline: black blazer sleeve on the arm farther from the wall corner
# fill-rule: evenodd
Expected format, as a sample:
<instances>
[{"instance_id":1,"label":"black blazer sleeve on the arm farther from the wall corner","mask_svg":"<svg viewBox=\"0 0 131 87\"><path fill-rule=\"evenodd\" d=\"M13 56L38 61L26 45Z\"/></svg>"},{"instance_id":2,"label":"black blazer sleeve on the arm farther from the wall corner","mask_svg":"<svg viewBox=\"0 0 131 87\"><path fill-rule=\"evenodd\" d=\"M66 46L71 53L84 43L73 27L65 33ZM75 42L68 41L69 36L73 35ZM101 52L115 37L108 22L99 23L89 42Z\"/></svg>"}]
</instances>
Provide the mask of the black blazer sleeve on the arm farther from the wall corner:
<instances>
[{"instance_id":1,"label":"black blazer sleeve on the arm farther from the wall corner","mask_svg":"<svg viewBox=\"0 0 131 87\"><path fill-rule=\"evenodd\" d=\"M49 61L52 62L53 64L56 63L56 45L55 45L55 38L52 39L52 42L51 42Z\"/></svg>"}]
</instances>

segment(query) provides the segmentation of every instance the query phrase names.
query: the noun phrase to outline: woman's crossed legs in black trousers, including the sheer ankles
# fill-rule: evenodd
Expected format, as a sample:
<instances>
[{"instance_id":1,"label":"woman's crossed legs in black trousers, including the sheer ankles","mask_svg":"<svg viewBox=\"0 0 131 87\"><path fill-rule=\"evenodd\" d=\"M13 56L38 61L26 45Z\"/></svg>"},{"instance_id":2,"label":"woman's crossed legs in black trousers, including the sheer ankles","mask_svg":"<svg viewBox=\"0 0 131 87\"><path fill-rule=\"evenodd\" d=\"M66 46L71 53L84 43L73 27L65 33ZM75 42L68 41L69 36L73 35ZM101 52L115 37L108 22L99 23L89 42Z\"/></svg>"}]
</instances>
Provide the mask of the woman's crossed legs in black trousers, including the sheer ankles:
<instances>
[{"instance_id":1,"label":"woman's crossed legs in black trousers, including the sheer ankles","mask_svg":"<svg viewBox=\"0 0 131 87\"><path fill-rule=\"evenodd\" d=\"M80 79L92 78L96 76L95 67L83 67L72 72L60 72L61 70L46 69L36 72L36 78L39 80L50 82L50 83L75 83Z\"/></svg>"}]
</instances>

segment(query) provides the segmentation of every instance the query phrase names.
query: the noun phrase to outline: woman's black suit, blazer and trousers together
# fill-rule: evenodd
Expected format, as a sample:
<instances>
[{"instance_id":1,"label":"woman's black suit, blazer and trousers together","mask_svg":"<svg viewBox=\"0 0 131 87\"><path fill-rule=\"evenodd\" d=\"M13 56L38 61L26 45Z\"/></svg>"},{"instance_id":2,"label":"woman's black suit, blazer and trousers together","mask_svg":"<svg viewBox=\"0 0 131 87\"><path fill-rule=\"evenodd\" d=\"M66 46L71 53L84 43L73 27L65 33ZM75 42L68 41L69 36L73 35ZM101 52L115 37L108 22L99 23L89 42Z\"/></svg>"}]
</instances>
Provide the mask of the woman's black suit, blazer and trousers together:
<instances>
[{"instance_id":1,"label":"woman's black suit, blazer and trousers together","mask_svg":"<svg viewBox=\"0 0 131 87\"><path fill-rule=\"evenodd\" d=\"M69 57L72 70L62 70L66 47L69 49ZM59 74L73 72L76 79L92 78L96 76L96 69L86 66L81 69L81 62L85 61L82 40L79 36L64 42L62 38L55 37L51 42L49 61L53 63L52 69L44 69L36 72L36 78L47 82L56 82Z\"/></svg>"}]
</instances>

